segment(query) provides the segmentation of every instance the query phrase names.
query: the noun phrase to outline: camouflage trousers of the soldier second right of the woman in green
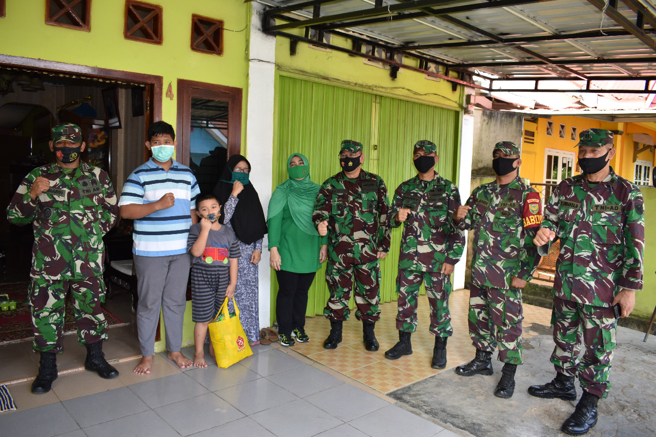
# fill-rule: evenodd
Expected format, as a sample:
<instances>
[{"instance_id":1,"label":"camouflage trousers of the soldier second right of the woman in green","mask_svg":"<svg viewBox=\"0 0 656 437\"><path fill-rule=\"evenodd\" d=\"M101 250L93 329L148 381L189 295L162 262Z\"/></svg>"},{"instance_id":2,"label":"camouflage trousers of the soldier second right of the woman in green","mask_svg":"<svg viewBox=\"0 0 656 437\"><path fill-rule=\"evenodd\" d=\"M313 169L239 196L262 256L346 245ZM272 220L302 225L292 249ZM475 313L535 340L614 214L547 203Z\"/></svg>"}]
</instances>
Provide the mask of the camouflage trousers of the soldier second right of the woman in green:
<instances>
[{"instance_id":1,"label":"camouflage trousers of the soldier second right of the woman in green","mask_svg":"<svg viewBox=\"0 0 656 437\"><path fill-rule=\"evenodd\" d=\"M417 329L417 298L422 281L430 305L428 330L436 336L451 337L453 335L451 313L449 313L451 275L443 275L440 272L399 269L396 276L396 292L399 293L396 329L404 332L415 332Z\"/></svg>"}]
</instances>

